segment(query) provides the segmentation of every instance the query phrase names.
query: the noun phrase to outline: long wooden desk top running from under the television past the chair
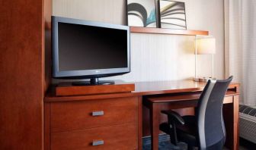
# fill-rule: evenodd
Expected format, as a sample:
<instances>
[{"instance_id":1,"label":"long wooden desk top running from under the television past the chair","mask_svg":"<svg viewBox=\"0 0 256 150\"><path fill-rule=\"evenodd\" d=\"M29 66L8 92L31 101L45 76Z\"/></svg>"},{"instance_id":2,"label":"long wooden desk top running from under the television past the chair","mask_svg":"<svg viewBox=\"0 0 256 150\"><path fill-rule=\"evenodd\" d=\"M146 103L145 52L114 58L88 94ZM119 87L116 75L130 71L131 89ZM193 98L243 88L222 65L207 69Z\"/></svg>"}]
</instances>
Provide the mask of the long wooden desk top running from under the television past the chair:
<instances>
[{"instance_id":1,"label":"long wooden desk top running from under the television past the chair","mask_svg":"<svg viewBox=\"0 0 256 150\"><path fill-rule=\"evenodd\" d=\"M56 96L53 92L48 93L45 102L63 102L76 100L89 100L95 98L117 98L128 96L142 96L142 95L158 95L171 94L176 92L197 92L202 91L206 83L194 82L193 80L174 80L174 81L153 81L153 82L136 82L135 91L120 92L101 95L77 95L77 96ZM231 83L229 89L234 89L238 92L238 83Z\"/></svg>"}]
</instances>

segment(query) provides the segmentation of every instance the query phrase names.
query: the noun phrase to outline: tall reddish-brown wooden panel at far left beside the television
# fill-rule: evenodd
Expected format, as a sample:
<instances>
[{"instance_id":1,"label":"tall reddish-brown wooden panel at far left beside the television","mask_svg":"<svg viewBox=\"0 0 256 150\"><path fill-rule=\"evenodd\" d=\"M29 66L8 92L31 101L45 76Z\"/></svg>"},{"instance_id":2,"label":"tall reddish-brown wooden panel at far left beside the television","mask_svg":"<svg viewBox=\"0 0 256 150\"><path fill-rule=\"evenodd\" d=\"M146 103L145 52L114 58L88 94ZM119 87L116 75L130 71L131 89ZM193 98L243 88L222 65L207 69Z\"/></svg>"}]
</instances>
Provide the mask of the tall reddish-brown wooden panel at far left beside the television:
<instances>
[{"instance_id":1,"label":"tall reddish-brown wooden panel at far left beside the television","mask_svg":"<svg viewBox=\"0 0 256 150\"><path fill-rule=\"evenodd\" d=\"M43 0L1 1L0 149L43 149Z\"/></svg>"}]
</instances>

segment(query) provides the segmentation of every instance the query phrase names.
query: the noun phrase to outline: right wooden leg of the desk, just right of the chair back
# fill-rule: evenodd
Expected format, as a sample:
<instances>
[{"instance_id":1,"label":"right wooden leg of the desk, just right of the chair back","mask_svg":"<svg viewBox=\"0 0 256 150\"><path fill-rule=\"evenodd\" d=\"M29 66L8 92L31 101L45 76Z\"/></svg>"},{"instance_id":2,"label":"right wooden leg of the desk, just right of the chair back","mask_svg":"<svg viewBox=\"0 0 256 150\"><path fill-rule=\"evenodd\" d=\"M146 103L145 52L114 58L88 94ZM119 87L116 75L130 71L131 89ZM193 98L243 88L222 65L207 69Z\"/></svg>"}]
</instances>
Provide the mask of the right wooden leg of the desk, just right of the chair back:
<instances>
[{"instance_id":1,"label":"right wooden leg of the desk, just right of the chair back","mask_svg":"<svg viewBox=\"0 0 256 150\"><path fill-rule=\"evenodd\" d=\"M238 114L239 95L233 96L233 102L223 105L223 117L226 126L226 147L237 150L239 147Z\"/></svg>"}]
</instances>

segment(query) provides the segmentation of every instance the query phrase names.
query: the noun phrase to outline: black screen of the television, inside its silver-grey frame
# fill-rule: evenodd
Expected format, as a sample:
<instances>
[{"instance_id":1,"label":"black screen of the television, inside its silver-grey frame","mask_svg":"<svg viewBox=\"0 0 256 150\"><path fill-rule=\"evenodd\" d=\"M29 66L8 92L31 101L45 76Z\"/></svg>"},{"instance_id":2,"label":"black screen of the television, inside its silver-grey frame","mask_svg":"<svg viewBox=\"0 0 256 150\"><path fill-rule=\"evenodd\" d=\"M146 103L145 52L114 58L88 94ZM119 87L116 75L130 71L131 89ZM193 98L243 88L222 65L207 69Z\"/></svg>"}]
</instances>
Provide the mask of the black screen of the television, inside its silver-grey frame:
<instances>
[{"instance_id":1,"label":"black screen of the television, inside its silver-grey frame","mask_svg":"<svg viewBox=\"0 0 256 150\"><path fill-rule=\"evenodd\" d=\"M59 23L59 70L127 67L127 32Z\"/></svg>"}]
</instances>

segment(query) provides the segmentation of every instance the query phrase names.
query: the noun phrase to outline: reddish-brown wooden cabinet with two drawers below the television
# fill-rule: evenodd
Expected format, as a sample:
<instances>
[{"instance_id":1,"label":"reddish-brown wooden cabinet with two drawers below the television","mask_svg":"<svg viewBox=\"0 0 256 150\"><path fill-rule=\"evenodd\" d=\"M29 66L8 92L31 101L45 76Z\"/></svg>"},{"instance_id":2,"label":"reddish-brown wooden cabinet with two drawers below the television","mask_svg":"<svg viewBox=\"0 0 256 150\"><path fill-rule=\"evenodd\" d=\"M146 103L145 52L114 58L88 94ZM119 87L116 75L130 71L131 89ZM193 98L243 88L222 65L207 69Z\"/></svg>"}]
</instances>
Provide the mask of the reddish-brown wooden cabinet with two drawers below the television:
<instances>
[{"instance_id":1,"label":"reddish-brown wooden cabinet with two drawers below the television","mask_svg":"<svg viewBox=\"0 0 256 150\"><path fill-rule=\"evenodd\" d=\"M138 149L138 109L136 96L46 102L46 149Z\"/></svg>"}]
</instances>

